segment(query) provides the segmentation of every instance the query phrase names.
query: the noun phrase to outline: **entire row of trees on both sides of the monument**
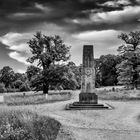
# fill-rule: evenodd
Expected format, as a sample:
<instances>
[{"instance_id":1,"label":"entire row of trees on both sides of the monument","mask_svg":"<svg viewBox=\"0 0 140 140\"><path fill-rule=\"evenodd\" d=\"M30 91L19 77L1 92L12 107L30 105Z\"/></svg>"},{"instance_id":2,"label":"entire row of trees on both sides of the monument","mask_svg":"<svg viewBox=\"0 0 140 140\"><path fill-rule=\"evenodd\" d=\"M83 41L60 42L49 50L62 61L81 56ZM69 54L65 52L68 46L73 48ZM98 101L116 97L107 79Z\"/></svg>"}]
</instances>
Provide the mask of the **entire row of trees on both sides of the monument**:
<instances>
[{"instance_id":1,"label":"entire row of trees on both sides of the monument","mask_svg":"<svg viewBox=\"0 0 140 140\"><path fill-rule=\"evenodd\" d=\"M122 33L124 44L118 47L118 55L101 55L95 59L96 87L125 85L137 89L140 84L140 31ZM82 65L67 62L70 46L60 36L45 36L37 32L28 45L32 56L25 73L15 73L5 66L0 70L0 92L39 91L49 89L80 89ZM33 65L36 62L37 66Z\"/></svg>"}]
</instances>

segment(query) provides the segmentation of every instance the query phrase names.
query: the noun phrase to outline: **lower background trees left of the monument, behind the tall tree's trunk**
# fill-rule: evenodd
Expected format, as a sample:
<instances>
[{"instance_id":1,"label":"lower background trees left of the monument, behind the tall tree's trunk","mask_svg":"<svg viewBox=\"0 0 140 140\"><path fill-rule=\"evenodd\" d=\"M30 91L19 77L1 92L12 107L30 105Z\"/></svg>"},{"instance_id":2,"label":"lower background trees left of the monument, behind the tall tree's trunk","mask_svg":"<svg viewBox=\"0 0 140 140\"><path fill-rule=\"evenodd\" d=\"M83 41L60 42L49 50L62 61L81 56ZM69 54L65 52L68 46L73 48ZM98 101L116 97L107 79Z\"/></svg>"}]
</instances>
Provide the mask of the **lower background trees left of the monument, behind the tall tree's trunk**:
<instances>
[{"instance_id":1,"label":"lower background trees left of the monument, behind the tall tree's trunk","mask_svg":"<svg viewBox=\"0 0 140 140\"><path fill-rule=\"evenodd\" d=\"M73 62L52 65L48 70L49 89L75 90L81 86L81 67ZM25 73L15 73L5 66L0 70L0 92L24 92L43 90L43 70L34 65L28 66Z\"/></svg>"}]
</instances>

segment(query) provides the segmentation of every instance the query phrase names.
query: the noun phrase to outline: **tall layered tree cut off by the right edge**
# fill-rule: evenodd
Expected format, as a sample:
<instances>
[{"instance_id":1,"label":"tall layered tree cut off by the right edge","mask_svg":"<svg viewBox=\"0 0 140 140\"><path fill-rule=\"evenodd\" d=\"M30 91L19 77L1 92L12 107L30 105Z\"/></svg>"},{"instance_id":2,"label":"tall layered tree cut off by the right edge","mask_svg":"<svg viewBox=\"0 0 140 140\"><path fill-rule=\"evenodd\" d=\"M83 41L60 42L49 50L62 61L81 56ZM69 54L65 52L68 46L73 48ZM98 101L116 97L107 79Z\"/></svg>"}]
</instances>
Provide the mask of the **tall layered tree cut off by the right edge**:
<instances>
[{"instance_id":1,"label":"tall layered tree cut off by the right edge","mask_svg":"<svg viewBox=\"0 0 140 140\"><path fill-rule=\"evenodd\" d=\"M119 38L125 44L118 48L123 61L117 65L118 81L137 89L140 81L140 31L122 33Z\"/></svg>"}]
</instances>

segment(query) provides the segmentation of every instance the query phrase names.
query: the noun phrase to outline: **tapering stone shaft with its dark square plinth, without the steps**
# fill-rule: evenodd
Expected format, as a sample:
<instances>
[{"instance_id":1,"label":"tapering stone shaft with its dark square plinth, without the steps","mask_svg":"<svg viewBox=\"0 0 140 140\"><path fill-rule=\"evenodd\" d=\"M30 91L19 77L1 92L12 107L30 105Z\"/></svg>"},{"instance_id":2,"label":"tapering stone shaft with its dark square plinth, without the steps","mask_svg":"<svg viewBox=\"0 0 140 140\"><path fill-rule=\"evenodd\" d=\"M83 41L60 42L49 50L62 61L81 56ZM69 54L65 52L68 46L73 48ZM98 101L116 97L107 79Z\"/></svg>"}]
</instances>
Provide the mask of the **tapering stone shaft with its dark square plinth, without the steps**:
<instances>
[{"instance_id":1,"label":"tapering stone shaft with its dark square plinth, without the steps","mask_svg":"<svg viewBox=\"0 0 140 140\"><path fill-rule=\"evenodd\" d=\"M84 45L83 47L83 67L79 101L97 104L97 95L95 94L95 65L93 45Z\"/></svg>"}]
</instances>

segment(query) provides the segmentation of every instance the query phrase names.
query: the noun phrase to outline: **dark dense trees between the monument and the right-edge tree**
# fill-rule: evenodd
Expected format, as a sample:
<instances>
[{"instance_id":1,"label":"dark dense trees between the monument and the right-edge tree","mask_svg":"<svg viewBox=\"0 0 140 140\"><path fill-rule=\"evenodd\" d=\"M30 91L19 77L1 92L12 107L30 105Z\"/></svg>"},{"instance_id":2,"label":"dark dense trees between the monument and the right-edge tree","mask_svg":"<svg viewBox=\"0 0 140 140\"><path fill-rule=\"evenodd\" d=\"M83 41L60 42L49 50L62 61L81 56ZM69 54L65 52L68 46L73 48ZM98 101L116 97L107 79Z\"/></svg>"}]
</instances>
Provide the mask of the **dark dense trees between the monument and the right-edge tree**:
<instances>
[{"instance_id":1,"label":"dark dense trees between the monument and the right-edge tree","mask_svg":"<svg viewBox=\"0 0 140 140\"><path fill-rule=\"evenodd\" d=\"M96 86L113 86L117 85L116 65L121 58L117 55L101 55L95 60Z\"/></svg>"}]
</instances>

